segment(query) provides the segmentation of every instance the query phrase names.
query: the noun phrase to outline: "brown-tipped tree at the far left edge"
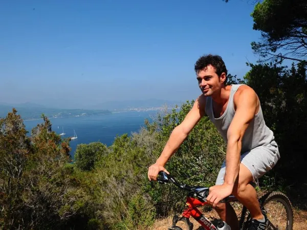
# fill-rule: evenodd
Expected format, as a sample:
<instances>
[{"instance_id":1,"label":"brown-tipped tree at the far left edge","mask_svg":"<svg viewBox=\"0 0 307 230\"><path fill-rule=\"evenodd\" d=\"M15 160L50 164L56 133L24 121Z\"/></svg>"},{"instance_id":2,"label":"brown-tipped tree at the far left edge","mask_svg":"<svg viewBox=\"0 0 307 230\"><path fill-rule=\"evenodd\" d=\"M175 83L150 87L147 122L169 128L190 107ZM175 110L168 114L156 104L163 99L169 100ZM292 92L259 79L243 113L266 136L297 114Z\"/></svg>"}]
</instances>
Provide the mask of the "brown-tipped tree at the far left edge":
<instances>
[{"instance_id":1,"label":"brown-tipped tree at the far left edge","mask_svg":"<svg viewBox=\"0 0 307 230\"><path fill-rule=\"evenodd\" d=\"M22 222L22 178L30 154L27 130L13 108L0 119L0 228L17 228Z\"/></svg>"}]
</instances>

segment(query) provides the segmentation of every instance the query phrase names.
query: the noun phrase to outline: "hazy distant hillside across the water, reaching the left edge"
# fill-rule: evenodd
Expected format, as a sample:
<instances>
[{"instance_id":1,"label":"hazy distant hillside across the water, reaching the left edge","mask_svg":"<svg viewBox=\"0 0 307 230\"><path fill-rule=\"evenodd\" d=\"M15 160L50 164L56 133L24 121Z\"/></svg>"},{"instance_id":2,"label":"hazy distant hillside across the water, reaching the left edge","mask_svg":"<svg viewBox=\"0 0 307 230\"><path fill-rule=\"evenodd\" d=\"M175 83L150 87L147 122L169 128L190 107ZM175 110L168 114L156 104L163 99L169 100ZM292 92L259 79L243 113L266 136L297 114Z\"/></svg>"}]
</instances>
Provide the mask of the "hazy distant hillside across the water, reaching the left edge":
<instances>
[{"instance_id":1,"label":"hazy distant hillside across the water, reaching the left edge","mask_svg":"<svg viewBox=\"0 0 307 230\"><path fill-rule=\"evenodd\" d=\"M0 105L0 118L6 117L8 112L15 108L24 120L39 119L41 114L45 114L49 118L65 118L65 117L76 117L76 116L88 116L94 114L109 114L109 110L90 110L90 109L55 109L37 107L39 105L34 104L22 104L17 106Z\"/></svg>"}]
</instances>

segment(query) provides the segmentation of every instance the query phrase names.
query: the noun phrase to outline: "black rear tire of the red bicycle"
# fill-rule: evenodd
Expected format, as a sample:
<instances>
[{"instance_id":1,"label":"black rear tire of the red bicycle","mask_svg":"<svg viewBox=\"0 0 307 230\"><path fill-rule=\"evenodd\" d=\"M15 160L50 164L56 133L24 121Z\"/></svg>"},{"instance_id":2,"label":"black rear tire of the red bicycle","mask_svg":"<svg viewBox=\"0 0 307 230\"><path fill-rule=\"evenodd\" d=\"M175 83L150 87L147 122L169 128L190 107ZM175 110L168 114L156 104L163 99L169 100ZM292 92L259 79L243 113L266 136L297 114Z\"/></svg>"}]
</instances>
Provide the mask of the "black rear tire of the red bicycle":
<instances>
[{"instance_id":1,"label":"black rear tire of the red bicycle","mask_svg":"<svg viewBox=\"0 0 307 230\"><path fill-rule=\"evenodd\" d=\"M293 207L289 198L281 192L271 192L267 193L259 198L260 208L264 211L264 206L270 201L279 201L283 204L284 209L287 213L287 228L286 230L292 230L293 228ZM250 216L247 217L247 220L244 223L244 226L247 227L247 222L249 221ZM246 229L246 228L244 228Z\"/></svg>"}]
</instances>

